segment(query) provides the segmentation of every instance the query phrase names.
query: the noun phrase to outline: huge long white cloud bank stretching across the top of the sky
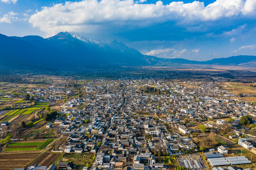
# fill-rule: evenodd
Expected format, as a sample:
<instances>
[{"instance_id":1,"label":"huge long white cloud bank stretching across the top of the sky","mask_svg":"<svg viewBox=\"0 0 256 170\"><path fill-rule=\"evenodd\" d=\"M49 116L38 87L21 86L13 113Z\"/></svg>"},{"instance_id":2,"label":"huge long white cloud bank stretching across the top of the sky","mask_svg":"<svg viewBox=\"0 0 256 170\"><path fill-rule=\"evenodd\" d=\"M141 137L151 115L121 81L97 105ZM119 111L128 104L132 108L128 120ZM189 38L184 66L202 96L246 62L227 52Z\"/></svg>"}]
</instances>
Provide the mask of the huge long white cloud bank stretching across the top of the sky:
<instances>
[{"instance_id":1,"label":"huge long white cloud bank stretching across the top of the sky","mask_svg":"<svg viewBox=\"0 0 256 170\"><path fill-rule=\"evenodd\" d=\"M143 27L174 21L181 26L193 26L198 22L251 14L254 11L250 6L253 1L216 0L205 7L199 1L175 1L163 5L160 0L155 4L139 4L133 0L82 0L44 7L29 18L29 23L48 34L56 34L60 30L89 32L107 24Z\"/></svg>"}]
</instances>

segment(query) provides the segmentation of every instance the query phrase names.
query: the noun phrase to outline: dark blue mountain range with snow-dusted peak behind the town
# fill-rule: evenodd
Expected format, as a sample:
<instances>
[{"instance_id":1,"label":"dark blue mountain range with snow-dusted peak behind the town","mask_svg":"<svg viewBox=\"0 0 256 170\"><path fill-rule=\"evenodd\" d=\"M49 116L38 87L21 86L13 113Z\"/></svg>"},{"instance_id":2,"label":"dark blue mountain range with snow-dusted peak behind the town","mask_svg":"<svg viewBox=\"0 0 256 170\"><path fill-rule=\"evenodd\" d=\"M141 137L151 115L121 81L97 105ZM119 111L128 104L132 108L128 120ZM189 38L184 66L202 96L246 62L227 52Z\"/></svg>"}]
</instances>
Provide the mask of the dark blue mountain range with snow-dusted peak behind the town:
<instances>
[{"instance_id":1,"label":"dark blue mountain range with snow-dusted peak behind the town","mask_svg":"<svg viewBox=\"0 0 256 170\"><path fill-rule=\"evenodd\" d=\"M97 42L77 33L60 32L49 38L0 34L0 67L12 69L99 68L101 66L250 65L256 56L232 56L208 61L164 59L143 55L114 40Z\"/></svg>"}]
</instances>

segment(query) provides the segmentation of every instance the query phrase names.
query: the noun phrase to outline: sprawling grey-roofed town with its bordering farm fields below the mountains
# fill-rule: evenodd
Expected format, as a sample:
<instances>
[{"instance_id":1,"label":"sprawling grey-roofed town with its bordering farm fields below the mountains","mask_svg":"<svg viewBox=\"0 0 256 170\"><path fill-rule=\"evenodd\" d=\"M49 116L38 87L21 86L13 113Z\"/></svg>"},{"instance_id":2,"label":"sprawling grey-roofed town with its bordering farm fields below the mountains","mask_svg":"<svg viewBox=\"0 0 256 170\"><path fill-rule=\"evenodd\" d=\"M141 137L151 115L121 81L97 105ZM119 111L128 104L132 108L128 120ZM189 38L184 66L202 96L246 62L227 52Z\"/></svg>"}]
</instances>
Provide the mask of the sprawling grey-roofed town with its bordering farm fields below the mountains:
<instances>
[{"instance_id":1,"label":"sprawling grey-roofed town with its bordering farm fields below the mountains","mask_svg":"<svg viewBox=\"0 0 256 170\"><path fill-rule=\"evenodd\" d=\"M254 82L47 81L0 84L1 170L256 167Z\"/></svg>"}]
</instances>

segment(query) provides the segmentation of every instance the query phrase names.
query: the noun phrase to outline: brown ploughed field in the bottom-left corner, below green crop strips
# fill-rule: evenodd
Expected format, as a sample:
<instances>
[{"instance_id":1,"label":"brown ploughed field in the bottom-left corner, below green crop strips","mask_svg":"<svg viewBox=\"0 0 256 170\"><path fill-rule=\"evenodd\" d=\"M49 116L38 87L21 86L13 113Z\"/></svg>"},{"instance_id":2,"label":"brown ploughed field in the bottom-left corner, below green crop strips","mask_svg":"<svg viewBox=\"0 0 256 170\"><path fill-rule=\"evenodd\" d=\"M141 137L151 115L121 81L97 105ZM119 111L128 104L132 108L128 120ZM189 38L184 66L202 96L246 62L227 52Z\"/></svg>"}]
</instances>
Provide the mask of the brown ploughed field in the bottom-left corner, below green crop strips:
<instances>
[{"instance_id":1,"label":"brown ploughed field in the bottom-left corner, below green crop strips","mask_svg":"<svg viewBox=\"0 0 256 170\"><path fill-rule=\"evenodd\" d=\"M0 153L0 170L22 168L34 160L39 154L39 152Z\"/></svg>"}]
</instances>

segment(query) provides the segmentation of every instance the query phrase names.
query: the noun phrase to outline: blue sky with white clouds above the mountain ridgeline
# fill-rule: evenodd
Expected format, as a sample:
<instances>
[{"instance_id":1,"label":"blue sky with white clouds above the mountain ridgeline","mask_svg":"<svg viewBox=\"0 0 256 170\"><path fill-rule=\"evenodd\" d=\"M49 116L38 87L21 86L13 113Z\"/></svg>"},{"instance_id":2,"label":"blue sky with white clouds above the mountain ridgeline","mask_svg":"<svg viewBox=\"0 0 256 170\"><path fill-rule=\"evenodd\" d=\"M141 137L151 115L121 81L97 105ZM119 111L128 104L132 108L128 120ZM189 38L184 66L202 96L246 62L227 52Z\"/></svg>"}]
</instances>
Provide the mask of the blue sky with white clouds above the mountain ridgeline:
<instances>
[{"instance_id":1,"label":"blue sky with white clouds above the mountain ridgeline","mask_svg":"<svg viewBox=\"0 0 256 170\"><path fill-rule=\"evenodd\" d=\"M161 58L256 55L256 0L0 0L0 34L61 31Z\"/></svg>"}]
</instances>

